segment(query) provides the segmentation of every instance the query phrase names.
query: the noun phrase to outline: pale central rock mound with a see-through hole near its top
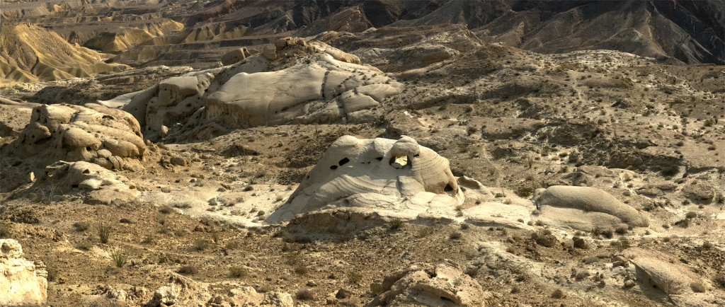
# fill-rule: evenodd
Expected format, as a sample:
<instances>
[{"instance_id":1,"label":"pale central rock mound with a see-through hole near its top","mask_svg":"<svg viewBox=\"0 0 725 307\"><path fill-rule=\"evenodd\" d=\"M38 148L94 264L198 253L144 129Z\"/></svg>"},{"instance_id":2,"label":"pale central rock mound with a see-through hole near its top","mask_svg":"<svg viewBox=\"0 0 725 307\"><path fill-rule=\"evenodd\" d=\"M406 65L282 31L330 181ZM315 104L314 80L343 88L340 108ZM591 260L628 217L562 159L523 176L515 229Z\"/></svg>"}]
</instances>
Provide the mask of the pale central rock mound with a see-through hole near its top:
<instances>
[{"instance_id":1,"label":"pale central rock mound with a see-through hole near its top","mask_svg":"<svg viewBox=\"0 0 725 307\"><path fill-rule=\"evenodd\" d=\"M419 214L453 216L463 198L448 160L413 138L345 135L267 221L287 221L297 214L336 207L392 211L410 219Z\"/></svg>"}]
</instances>

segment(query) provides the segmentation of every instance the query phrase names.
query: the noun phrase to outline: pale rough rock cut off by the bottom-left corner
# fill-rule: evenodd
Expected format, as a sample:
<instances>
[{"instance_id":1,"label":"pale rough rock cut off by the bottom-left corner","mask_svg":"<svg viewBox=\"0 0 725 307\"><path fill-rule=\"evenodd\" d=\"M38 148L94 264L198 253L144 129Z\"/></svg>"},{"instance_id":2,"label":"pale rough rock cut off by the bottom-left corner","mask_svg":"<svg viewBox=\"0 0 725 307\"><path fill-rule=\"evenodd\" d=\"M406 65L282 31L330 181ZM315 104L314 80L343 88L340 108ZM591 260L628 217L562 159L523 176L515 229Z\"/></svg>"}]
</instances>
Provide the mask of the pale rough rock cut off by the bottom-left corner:
<instances>
[{"instance_id":1,"label":"pale rough rock cut off by the bottom-left corner","mask_svg":"<svg viewBox=\"0 0 725 307\"><path fill-rule=\"evenodd\" d=\"M0 306L41 305L48 298L45 265L22 255L16 240L0 240Z\"/></svg>"}]
</instances>

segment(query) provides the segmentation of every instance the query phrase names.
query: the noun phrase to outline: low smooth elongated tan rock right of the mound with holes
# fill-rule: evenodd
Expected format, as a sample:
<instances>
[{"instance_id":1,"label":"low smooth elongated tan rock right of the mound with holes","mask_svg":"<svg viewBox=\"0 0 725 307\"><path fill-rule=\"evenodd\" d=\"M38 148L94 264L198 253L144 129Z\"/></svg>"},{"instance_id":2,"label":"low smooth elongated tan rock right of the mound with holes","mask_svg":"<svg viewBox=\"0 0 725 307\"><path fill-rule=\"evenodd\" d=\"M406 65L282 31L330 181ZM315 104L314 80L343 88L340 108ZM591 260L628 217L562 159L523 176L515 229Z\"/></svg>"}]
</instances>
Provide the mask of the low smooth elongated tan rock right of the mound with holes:
<instances>
[{"instance_id":1,"label":"low smooth elongated tan rock right of the mound with holes","mask_svg":"<svg viewBox=\"0 0 725 307\"><path fill-rule=\"evenodd\" d=\"M649 224L642 213L597 188L554 185L537 191L535 201L544 218L579 230Z\"/></svg>"}]
</instances>

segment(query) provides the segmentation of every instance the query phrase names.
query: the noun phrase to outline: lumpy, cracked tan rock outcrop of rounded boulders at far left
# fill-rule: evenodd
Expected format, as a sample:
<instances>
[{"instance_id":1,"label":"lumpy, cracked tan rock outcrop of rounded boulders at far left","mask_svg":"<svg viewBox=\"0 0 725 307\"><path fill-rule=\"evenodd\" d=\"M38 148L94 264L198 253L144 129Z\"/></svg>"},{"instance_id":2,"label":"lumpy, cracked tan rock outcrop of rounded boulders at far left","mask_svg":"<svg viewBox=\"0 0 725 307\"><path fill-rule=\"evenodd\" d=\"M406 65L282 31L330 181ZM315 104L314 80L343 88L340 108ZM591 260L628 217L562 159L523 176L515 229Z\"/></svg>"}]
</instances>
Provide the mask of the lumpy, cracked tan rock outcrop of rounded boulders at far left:
<instances>
[{"instance_id":1,"label":"lumpy, cracked tan rock outcrop of rounded boulders at far left","mask_svg":"<svg viewBox=\"0 0 725 307\"><path fill-rule=\"evenodd\" d=\"M140 165L146 151L136 119L99 104L36 106L15 143L26 156L41 153L49 162L90 161L107 169Z\"/></svg>"}]
</instances>

